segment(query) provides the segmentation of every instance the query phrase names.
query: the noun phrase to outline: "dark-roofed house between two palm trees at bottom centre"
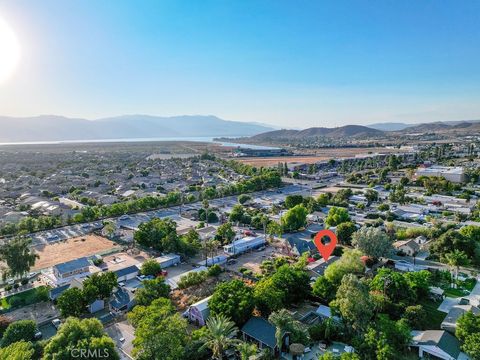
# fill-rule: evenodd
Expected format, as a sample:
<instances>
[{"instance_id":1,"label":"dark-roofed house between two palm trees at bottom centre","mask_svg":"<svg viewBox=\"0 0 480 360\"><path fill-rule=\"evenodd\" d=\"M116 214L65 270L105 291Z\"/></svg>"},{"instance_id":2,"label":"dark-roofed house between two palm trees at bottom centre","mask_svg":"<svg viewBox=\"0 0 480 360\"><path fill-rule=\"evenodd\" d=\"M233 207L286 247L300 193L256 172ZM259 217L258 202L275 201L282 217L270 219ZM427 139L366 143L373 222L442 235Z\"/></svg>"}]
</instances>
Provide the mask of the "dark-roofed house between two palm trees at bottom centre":
<instances>
[{"instance_id":1,"label":"dark-roofed house between two palm trees at bottom centre","mask_svg":"<svg viewBox=\"0 0 480 360\"><path fill-rule=\"evenodd\" d=\"M252 316L241 330L242 339L244 341L257 344L259 349L269 348L275 354L278 354L279 349L275 340L275 326L269 323L262 317ZM283 335L283 347L289 345L290 335L285 333Z\"/></svg>"}]
</instances>

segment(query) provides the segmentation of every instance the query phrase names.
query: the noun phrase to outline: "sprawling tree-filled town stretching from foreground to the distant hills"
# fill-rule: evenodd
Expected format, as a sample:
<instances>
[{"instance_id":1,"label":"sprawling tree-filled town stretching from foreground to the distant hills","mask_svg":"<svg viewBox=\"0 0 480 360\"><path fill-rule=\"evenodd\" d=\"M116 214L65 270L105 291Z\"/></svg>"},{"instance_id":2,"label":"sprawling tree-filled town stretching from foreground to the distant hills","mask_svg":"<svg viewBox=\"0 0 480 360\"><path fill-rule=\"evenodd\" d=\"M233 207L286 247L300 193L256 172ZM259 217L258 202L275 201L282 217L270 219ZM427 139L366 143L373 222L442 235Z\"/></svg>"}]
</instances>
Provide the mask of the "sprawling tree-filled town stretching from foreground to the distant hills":
<instances>
[{"instance_id":1,"label":"sprawling tree-filled town stretching from foreground to the distant hills","mask_svg":"<svg viewBox=\"0 0 480 360\"><path fill-rule=\"evenodd\" d=\"M478 359L477 145L2 146L2 347Z\"/></svg>"}]
</instances>

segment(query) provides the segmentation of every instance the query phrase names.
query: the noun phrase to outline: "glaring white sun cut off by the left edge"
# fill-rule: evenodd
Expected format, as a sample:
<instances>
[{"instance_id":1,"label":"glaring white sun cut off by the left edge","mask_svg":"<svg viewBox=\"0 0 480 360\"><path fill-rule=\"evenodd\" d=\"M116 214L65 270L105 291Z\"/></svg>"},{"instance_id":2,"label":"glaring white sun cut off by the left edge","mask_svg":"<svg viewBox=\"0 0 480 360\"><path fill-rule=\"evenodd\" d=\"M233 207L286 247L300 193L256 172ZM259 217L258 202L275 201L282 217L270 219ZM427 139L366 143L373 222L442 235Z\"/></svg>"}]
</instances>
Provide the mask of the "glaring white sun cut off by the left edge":
<instances>
[{"instance_id":1,"label":"glaring white sun cut off by the left edge","mask_svg":"<svg viewBox=\"0 0 480 360\"><path fill-rule=\"evenodd\" d=\"M13 74L20 60L20 45L12 28L0 17L0 84Z\"/></svg>"}]
</instances>

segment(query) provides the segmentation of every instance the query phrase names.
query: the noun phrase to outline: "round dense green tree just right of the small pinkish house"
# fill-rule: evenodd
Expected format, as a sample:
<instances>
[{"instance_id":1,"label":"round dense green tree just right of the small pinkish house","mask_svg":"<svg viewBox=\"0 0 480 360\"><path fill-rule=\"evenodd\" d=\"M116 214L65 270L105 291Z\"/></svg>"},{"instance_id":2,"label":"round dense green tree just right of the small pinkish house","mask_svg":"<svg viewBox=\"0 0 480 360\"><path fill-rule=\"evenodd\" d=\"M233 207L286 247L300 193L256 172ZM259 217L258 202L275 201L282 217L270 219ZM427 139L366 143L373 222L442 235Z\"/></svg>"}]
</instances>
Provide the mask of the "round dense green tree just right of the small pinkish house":
<instances>
[{"instance_id":1,"label":"round dense green tree just right of the small pinkish house","mask_svg":"<svg viewBox=\"0 0 480 360\"><path fill-rule=\"evenodd\" d=\"M250 318L254 306L253 289L241 280L220 283L208 301L210 315L223 315L239 326Z\"/></svg>"}]
</instances>

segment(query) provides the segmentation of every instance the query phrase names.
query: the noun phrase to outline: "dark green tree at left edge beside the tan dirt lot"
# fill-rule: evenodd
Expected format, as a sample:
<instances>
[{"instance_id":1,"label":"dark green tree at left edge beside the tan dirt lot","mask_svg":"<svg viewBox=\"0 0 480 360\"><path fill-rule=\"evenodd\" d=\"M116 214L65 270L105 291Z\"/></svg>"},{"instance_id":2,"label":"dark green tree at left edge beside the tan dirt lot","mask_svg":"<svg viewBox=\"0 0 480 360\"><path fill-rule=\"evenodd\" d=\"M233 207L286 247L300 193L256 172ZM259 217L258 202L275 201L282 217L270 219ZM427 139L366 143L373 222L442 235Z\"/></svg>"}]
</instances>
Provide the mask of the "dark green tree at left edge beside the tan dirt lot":
<instances>
[{"instance_id":1,"label":"dark green tree at left edge beside the tan dirt lot","mask_svg":"<svg viewBox=\"0 0 480 360\"><path fill-rule=\"evenodd\" d=\"M38 255L31 250L32 240L16 237L0 246L0 260L7 264L2 271L3 278L23 276L35 265Z\"/></svg>"}]
</instances>

